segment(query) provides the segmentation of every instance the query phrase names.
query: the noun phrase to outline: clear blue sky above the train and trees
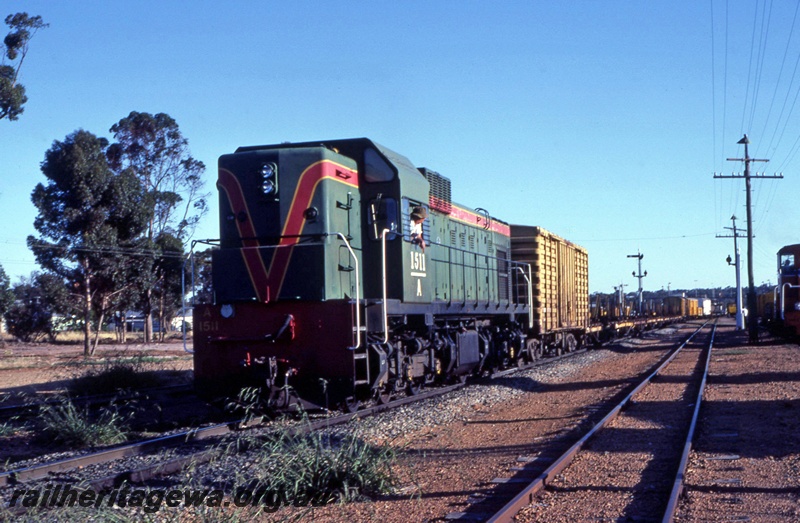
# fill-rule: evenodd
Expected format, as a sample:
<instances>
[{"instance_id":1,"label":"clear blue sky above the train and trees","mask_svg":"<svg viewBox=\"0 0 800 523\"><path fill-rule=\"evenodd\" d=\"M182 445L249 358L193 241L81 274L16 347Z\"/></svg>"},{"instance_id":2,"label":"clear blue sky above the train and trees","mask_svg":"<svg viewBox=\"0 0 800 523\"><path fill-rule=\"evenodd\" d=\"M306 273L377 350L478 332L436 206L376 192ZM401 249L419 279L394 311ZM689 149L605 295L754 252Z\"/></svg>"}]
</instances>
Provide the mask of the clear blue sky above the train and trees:
<instances>
[{"instance_id":1,"label":"clear blue sky above the train and trees","mask_svg":"<svg viewBox=\"0 0 800 523\"><path fill-rule=\"evenodd\" d=\"M726 11L726 3L727 6ZM736 142L783 180L754 181L755 281L800 243L796 2L15 1L50 27L31 42L29 101L0 121L0 265L37 267L30 194L54 140L110 138L165 112L207 166L241 145L366 136L451 178L453 198L589 251L591 291L734 285L745 225ZM712 16L713 13L713 16ZM2 35L7 33L2 26ZM788 124L786 123L788 122ZM746 281L746 245L741 242Z\"/></svg>"}]
</instances>

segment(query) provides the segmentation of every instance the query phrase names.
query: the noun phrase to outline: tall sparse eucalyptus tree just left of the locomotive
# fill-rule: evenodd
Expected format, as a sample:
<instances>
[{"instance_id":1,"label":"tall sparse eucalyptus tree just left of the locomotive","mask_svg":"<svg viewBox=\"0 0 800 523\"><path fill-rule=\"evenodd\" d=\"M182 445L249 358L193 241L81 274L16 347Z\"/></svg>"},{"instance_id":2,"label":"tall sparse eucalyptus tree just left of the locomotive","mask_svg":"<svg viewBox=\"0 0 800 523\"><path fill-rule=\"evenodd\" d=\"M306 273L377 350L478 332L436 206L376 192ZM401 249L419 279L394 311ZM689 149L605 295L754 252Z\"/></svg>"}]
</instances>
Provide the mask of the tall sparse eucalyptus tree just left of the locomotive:
<instances>
[{"instance_id":1,"label":"tall sparse eucalyptus tree just left of the locomotive","mask_svg":"<svg viewBox=\"0 0 800 523\"><path fill-rule=\"evenodd\" d=\"M116 142L108 148L109 164L118 174L135 176L151 206L142 238L156 254L149 260L150 266L140 272L138 282L140 306L146 317L145 341L150 341L154 301L161 301L156 287L174 281L176 274L180 277L182 265L169 260L183 256L184 242L208 210L202 179L205 165L191 156L188 140L167 114L134 111L114 124L111 132ZM170 238L178 242L168 241ZM169 271L173 273L167 274ZM162 285L161 291L172 287ZM174 294L174 290L171 292Z\"/></svg>"}]
</instances>

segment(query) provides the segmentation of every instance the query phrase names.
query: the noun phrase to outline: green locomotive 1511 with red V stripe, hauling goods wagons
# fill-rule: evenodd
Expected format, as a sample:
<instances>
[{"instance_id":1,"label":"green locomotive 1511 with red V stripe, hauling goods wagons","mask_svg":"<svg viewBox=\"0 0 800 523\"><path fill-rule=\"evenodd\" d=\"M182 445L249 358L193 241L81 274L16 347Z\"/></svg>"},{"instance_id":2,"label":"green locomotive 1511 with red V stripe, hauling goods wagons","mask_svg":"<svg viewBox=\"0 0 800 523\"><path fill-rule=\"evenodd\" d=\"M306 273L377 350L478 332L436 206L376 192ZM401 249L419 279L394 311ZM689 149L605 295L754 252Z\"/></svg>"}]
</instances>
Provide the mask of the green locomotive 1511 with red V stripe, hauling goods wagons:
<instances>
[{"instance_id":1,"label":"green locomotive 1511 with red V stripe, hauling goods wagons","mask_svg":"<svg viewBox=\"0 0 800 523\"><path fill-rule=\"evenodd\" d=\"M585 249L453 202L366 138L241 147L217 188L214 303L193 311L205 394L354 409L634 326L590 324Z\"/></svg>"}]
</instances>

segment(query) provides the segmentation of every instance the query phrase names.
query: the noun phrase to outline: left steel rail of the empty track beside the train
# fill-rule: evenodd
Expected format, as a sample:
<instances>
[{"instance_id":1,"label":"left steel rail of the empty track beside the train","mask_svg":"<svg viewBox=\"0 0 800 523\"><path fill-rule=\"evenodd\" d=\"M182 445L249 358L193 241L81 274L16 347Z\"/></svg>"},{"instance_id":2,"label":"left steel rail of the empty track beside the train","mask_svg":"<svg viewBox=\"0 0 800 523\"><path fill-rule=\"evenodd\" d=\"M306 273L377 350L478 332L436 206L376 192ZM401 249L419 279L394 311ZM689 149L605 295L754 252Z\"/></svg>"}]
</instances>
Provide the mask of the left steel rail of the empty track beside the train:
<instances>
[{"instance_id":1,"label":"left steel rail of the empty track beside the train","mask_svg":"<svg viewBox=\"0 0 800 523\"><path fill-rule=\"evenodd\" d=\"M570 447L564 454L561 455L553 464L551 464L544 472L542 472L536 479L529 483L522 491L517 494L514 499L509 501L503 508L496 512L491 518L487 520L489 523L510 523L514 520L517 513L524 507L533 503L536 494L543 490L557 474L567 468L575 456L580 452L583 446L602 430L608 423L610 423L623 408L631 401L631 399L638 394L644 387L647 386L652 379L658 375L664 368L669 365L673 359L680 353L681 350L695 337L695 335L703 330L708 324L708 321L703 323L696 331L694 331L679 347L672 351L672 353L639 385L637 385L625 398L622 399L606 416L600 420L589 432L587 432L581 439L579 439L572 447Z\"/></svg>"}]
</instances>

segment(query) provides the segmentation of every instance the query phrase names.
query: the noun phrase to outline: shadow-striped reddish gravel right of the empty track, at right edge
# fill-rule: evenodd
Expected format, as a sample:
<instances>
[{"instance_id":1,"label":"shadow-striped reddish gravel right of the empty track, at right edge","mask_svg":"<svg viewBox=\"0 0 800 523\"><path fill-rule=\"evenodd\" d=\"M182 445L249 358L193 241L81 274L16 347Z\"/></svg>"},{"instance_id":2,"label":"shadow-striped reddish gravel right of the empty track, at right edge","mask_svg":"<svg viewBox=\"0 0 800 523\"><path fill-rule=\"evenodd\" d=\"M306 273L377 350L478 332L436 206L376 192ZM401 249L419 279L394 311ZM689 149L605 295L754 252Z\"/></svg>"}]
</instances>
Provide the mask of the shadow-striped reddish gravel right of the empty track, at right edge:
<instances>
[{"instance_id":1,"label":"shadow-striped reddish gravel right of the empty track, at right edge","mask_svg":"<svg viewBox=\"0 0 800 523\"><path fill-rule=\"evenodd\" d=\"M719 341L676 521L800 521L800 347Z\"/></svg>"}]
</instances>

